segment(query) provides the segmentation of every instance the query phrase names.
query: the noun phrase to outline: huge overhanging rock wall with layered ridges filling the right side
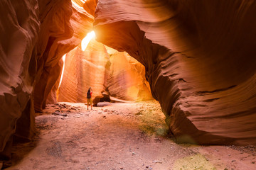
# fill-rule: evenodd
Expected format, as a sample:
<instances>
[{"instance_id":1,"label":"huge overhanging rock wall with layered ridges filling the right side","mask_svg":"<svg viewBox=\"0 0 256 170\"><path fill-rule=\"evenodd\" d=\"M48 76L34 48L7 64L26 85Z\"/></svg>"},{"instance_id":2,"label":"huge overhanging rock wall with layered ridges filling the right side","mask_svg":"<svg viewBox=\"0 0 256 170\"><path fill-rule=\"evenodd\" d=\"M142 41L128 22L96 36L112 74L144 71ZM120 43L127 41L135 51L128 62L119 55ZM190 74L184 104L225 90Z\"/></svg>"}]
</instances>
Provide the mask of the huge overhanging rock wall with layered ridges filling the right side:
<instances>
[{"instance_id":1,"label":"huge overhanging rock wall with layered ridges filling the right side","mask_svg":"<svg viewBox=\"0 0 256 170\"><path fill-rule=\"evenodd\" d=\"M94 25L97 40L144 64L179 141L255 144L255 11L255 1L99 1Z\"/></svg>"}]
</instances>

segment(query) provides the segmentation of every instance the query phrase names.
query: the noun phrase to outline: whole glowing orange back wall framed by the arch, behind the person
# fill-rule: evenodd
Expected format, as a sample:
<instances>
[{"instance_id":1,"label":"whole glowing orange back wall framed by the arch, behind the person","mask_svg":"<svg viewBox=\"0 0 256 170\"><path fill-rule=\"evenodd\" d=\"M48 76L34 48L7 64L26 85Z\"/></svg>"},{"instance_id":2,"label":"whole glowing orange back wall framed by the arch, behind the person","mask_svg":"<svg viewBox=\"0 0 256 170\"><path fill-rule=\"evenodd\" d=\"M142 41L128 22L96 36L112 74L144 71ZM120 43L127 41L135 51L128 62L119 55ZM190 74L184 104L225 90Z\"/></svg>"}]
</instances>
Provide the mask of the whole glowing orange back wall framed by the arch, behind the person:
<instances>
[{"instance_id":1,"label":"whole glowing orange back wall framed by the arch, behind the person","mask_svg":"<svg viewBox=\"0 0 256 170\"><path fill-rule=\"evenodd\" d=\"M111 51L109 47L107 49ZM144 76L144 66L126 52L112 50L114 52L108 53L107 49L93 38L85 51L79 45L67 53L58 101L87 103L86 93L90 86L95 104L104 97L103 94L107 98L114 97L113 100L153 99Z\"/></svg>"}]
</instances>

